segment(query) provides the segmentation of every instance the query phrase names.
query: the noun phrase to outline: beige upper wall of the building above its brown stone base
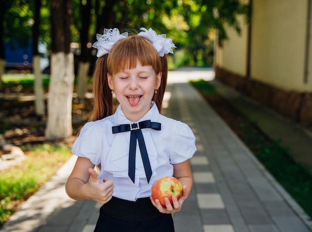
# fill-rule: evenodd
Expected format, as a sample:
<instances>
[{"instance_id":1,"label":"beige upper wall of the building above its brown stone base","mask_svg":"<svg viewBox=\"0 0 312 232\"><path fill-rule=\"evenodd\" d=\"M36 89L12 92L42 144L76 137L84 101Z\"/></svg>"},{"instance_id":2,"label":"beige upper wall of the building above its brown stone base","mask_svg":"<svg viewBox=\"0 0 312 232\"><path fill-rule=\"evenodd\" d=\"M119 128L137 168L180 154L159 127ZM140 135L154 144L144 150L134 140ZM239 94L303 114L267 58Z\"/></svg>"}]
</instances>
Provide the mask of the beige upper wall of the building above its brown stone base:
<instances>
[{"instance_id":1,"label":"beige upper wall of the building above its brown stone base","mask_svg":"<svg viewBox=\"0 0 312 232\"><path fill-rule=\"evenodd\" d=\"M285 90L312 91L311 41L308 82L304 83L307 8L308 0L253 0L251 78ZM232 29L227 32L229 41L217 48L215 64L245 76L247 26L241 36Z\"/></svg>"}]
</instances>

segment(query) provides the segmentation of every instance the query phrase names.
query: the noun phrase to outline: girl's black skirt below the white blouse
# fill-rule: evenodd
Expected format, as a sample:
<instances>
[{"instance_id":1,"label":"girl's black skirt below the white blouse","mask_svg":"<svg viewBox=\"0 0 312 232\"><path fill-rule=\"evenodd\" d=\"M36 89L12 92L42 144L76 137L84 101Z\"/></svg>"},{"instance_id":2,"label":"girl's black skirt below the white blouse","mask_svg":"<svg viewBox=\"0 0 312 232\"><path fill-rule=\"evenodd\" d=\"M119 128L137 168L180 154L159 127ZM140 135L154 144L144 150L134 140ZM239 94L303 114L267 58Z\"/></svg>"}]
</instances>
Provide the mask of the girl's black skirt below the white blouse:
<instances>
[{"instance_id":1,"label":"girl's black skirt below the white blouse","mask_svg":"<svg viewBox=\"0 0 312 232\"><path fill-rule=\"evenodd\" d=\"M101 207L94 232L174 232L174 226L171 214L161 214L150 198L113 197Z\"/></svg>"}]
</instances>

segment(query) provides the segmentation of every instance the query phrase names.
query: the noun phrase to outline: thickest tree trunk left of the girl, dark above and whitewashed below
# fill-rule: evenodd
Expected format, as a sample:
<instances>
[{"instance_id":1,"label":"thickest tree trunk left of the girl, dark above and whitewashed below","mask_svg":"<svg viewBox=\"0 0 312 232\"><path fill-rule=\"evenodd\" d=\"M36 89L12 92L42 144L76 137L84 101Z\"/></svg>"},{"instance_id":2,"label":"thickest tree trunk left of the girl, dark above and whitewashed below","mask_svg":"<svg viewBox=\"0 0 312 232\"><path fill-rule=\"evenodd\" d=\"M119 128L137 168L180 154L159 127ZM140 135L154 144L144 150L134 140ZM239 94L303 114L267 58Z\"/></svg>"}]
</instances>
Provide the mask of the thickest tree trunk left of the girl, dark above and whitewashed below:
<instances>
[{"instance_id":1,"label":"thickest tree trunk left of the girl, dark above and whitewashed below","mask_svg":"<svg viewBox=\"0 0 312 232\"><path fill-rule=\"evenodd\" d=\"M74 57L71 43L71 0L51 1L51 77L48 96L47 140L61 140L72 135L72 95Z\"/></svg>"}]
</instances>

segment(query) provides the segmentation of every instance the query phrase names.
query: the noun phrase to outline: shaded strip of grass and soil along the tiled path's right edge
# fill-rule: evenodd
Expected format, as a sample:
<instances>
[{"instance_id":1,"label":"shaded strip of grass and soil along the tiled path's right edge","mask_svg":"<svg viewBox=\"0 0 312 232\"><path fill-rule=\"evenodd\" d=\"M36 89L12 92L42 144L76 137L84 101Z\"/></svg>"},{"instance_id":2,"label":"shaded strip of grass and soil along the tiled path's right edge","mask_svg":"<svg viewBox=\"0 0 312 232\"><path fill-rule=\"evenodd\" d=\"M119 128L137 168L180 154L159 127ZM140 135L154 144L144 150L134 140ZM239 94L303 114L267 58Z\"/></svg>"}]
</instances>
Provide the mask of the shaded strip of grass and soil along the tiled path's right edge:
<instances>
[{"instance_id":1,"label":"shaded strip of grass and soil along the tiled path's right edge","mask_svg":"<svg viewBox=\"0 0 312 232\"><path fill-rule=\"evenodd\" d=\"M224 99L220 100L222 97L213 85L204 80L191 81L191 84L312 218L312 174L309 170L296 163L278 141L268 139L255 123L242 116Z\"/></svg>"}]
</instances>

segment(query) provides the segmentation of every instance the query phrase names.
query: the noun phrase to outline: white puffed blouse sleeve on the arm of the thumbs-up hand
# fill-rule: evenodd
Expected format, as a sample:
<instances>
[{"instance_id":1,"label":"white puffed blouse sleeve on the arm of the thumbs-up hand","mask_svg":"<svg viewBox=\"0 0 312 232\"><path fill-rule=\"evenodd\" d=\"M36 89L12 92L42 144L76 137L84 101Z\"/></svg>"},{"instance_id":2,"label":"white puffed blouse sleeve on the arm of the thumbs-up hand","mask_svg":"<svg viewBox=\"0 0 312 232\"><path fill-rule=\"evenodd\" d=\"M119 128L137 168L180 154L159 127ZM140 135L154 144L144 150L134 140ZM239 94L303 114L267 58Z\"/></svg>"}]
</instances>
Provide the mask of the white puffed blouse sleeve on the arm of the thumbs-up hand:
<instances>
[{"instance_id":1,"label":"white puffed blouse sleeve on the arm of the thumbs-up hand","mask_svg":"<svg viewBox=\"0 0 312 232\"><path fill-rule=\"evenodd\" d=\"M94 165L101 163L101 132L96 122L86 123L72 147L72 153L79 157L88 158Z\"/></svg>"}]
</instances>

